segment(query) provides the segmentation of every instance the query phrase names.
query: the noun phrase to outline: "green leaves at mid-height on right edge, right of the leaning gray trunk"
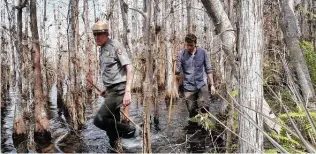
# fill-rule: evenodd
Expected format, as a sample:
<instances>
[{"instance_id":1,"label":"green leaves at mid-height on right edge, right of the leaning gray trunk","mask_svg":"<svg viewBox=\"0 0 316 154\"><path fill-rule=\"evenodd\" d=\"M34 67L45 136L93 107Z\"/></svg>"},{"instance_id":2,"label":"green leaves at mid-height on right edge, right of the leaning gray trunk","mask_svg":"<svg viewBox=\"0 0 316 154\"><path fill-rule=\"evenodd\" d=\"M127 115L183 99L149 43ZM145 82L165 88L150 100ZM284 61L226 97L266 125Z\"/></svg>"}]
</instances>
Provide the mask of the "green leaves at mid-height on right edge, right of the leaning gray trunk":
<instances>
[{"instance_id":1,"label":"green leaves at mid-height on right edge, right of the leaning gray trunk","mask_svg":"<svg viewBox=\"0 0 316 154\"><path fill-rule=\"evenodd\" d=\"M308 41L303 41L299 43L304 52L304 58L308 65L309 74L314 83L314 88L316 88L316 53L314 52L313 45Z\"/></svg>"}]
</instances>

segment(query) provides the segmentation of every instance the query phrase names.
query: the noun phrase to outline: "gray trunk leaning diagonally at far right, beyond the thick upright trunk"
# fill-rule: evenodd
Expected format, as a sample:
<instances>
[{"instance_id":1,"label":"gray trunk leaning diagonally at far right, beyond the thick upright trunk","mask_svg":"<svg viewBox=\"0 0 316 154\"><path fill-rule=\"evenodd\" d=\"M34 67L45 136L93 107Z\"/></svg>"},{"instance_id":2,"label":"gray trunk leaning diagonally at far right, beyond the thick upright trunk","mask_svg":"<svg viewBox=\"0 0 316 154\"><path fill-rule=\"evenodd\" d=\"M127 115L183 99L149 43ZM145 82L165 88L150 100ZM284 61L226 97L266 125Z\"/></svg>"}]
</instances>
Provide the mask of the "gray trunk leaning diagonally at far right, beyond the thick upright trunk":
<instances>
[{"instance_id":1,"label":"gray trunk leaning diagonally at far right, beyond the thick upright trunk","mask_svg":"<svg viewBox=\"0 0 316 154\"><path fill-rule=\"evenodd\" d=\"M308 102L315 97L315 91L312 85L311 77L307 64L304 60L302 50L298 44L300 31L298 21L295 17L294 10L289 5L288 0L281 0L281 26L284 40L291 55L291 63L297 74L299 86L302 92L304 102Z\"/></svg>"}]
</instances>

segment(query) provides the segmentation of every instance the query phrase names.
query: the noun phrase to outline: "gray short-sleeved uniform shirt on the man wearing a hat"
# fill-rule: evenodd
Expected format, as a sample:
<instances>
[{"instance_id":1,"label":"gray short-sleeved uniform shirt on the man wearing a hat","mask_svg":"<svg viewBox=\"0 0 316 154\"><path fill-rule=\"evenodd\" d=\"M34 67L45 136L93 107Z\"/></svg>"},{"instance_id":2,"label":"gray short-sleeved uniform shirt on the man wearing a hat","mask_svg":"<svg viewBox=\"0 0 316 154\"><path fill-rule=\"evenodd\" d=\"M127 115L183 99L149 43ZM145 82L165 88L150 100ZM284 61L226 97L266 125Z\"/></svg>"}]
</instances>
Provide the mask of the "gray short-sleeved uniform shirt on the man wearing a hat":
<instances>
[{"instance_id":1,"label":"gray short-sleeved uniform shirt on the man wearing a hat","mask_svg":"<svg viewBox=\"0 0 316 154\"><path fill-rule=\"evenodd\" d=\"M125 65L131 64L125 48L118 41L109 39L100 50L100 68L105 87L126 81Z\"/></svg>"}]
</instances>

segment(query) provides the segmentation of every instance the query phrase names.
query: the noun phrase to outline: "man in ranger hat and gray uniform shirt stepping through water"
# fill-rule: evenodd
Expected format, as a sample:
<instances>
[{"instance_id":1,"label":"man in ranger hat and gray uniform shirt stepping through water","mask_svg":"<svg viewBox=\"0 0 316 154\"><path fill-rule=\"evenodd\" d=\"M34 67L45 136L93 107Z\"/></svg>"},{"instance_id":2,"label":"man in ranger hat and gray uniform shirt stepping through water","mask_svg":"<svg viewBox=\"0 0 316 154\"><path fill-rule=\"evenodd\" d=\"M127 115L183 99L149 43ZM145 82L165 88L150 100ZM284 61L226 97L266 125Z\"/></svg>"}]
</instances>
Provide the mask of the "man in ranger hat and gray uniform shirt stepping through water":
<instances>
[{"instance_id":1,"label":"man in ranger hat and gray uniform shirt stepping through water","mask_svg":"<svg viewBox=\"0 0 316 154\"><path fill-rule=\"evenodd\" d=\"M100 49L100 69L106 87L100 93L104 103L94 118L94 124L107 132L110 145L116 148L121 137L134 137L136 128L120 122L120 108L131 103L133 66L123 45L109 38L108 25L98 21L92 26L95 42ZM111 152L115 152L111 151Z\"/></svg>"}]
</instances>

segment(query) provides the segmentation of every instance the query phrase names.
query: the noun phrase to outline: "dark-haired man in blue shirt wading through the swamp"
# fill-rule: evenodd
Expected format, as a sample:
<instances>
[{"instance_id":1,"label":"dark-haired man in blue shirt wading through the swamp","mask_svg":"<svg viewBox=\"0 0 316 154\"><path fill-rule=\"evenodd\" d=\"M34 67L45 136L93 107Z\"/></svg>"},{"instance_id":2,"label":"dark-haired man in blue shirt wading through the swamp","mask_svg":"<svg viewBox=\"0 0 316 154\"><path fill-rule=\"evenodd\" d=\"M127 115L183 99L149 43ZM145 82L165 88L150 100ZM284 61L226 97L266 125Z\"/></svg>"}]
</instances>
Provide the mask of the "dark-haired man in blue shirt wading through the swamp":
<instances>
[{"instance_id":1,"label":"dark-haired man in blue shirt wading through the swamp","mask_svg":"<svg viewBox=\"0 0 316 154\"><path fill-rule=\"evenodd\" d=\"M211 94L215 93L212 66L210 57L205 49L196 46L196 36L188 34L185 37L186 49L178 55L176 75L183 72L183 87L185 102L192 118L198 114L201 108L209 108L208 84L211 87ZM207 74L208 84L205 82L204 74ZM205 112L205 111L204 111Z\"/></svg>"}]
</instances>

